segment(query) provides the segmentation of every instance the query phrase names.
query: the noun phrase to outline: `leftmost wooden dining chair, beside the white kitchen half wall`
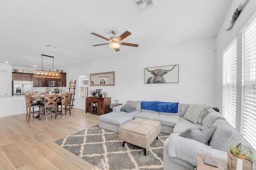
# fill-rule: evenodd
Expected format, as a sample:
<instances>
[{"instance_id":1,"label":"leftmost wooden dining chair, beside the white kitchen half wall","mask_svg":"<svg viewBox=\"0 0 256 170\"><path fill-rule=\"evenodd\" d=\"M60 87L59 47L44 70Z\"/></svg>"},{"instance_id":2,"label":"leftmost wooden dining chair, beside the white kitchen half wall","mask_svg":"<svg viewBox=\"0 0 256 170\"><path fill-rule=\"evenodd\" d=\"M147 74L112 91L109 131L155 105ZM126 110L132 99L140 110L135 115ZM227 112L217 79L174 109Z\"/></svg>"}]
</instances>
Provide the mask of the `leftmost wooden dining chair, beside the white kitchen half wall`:
<instances>
[{"instance_id":1,"label":"leftmost wooden dining chair, beside the white kitchen half wall","mask_svg":"<svg viewBox=\"0 0 256 170\"><path fill-rule=\"evenodd\" d=\"M28 122L30 120L31 115L34 118L34 115L39 115L42 112L43 106L40 105L38 102L34 102L34 100L31 100L32 96L36 96L37 94L24 94L25 101L26 101L26 119L28 119ZM38 108L38 110L35 111L35 108Z\"/></svg>"}]
</instances>

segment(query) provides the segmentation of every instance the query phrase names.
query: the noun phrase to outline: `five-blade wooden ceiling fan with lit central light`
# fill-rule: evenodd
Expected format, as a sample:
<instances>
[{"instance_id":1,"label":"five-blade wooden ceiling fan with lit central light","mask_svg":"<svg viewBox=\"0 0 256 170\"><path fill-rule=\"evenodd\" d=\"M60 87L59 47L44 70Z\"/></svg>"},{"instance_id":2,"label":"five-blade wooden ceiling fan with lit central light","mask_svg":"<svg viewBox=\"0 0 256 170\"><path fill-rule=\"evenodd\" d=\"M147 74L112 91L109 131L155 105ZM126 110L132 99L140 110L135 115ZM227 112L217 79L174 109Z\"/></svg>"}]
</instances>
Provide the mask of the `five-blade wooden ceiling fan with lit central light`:
<instances>
[{"instance_id":1,"label":"five-blade wooden ceiling fan with lit central light","mask_svg":"<svg viewBox=\"0 0 256 170\"><path fill-rule=\"evenodd\" d=\"M99 46L99 45L107 45L107 44L109 44L109 47L112 48L112 49L115 49L116 51L120 51L120 49L119 49L120 45L127 45L127 46L131 46L131 47L138 47L139 46L138 44L120 42L120 41L122 41L123 39L125 39L126 37L128 37L129 35L132 34L129 31L125 31L119 37L116 37L117 31L112 31L112 33L114 34L114 36L110 37L109 39L107 39L105 37L102 37L101 35L98 35L96 33L91 33L93 35L96 35L96 36L98 36L100 38L106 39L107 41L111 42L111 43L97 44L97 45L92 45L92 46Z\"/></svg>"}]
</instances>

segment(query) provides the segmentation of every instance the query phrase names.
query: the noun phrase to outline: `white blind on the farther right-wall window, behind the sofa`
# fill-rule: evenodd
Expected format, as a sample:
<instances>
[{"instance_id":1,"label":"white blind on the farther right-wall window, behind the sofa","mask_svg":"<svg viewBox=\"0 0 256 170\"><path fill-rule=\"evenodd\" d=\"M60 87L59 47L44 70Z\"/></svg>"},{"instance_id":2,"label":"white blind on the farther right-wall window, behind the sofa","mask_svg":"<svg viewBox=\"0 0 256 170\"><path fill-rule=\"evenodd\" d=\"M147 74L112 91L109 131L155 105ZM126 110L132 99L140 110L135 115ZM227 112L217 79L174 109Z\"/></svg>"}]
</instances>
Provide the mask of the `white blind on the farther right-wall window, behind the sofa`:
<instances>
[{"instance_id":1,"label":"white blind on the farther right-wall window, behind the sofa","mask_svg":"<svg viewBox=\"0 0 256 170\"><path fill-rule=\"evenodd\" d=\"M236 127L236 38L222 53L222 115Z\"/></svg>"}]
</instances>

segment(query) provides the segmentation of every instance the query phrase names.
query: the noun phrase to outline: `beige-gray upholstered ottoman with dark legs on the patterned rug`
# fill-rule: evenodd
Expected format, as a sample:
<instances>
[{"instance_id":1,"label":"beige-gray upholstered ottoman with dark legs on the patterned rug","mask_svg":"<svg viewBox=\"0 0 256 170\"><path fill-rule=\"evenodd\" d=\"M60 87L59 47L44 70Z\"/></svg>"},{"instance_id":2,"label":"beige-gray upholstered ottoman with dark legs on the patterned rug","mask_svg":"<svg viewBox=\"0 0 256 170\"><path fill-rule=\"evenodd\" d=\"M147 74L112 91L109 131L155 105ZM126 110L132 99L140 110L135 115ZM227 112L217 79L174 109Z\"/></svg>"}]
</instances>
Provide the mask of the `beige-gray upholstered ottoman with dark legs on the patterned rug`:
<instances>
[{"instance_id":1,"label":"beige-gray upholstered ottoman with dark legs on the patterned rug","mask_svg":"<svg viewBox=\"0 0 256 170\"><path fill-rule=\"evenodd\" d=\"M127 142L143 148L146 155L146 149L155 139L158 139L160 132L159 121L137 118L120 127L119 140L124 141L123 147Z\"/></svg>"}]
</instances>

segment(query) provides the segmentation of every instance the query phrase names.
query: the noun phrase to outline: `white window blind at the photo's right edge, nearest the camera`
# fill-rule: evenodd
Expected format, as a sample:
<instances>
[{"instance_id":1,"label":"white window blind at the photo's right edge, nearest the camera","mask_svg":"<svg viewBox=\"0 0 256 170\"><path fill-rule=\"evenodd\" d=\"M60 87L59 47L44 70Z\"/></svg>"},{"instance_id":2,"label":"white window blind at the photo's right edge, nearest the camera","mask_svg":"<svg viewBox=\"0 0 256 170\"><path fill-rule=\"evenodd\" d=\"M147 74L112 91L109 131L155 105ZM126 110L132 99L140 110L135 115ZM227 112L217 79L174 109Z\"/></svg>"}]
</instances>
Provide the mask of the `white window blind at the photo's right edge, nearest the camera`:
<instances>
[{"instance_id":1,"label":"white window blind at the photo's right edge, nearest the camera","mask_svg":"<svg viewBox=\"0 0 256 170\"><path fill-rule=\"evenodd\" d=\"M242 31L241 133L256 150L256 19Z\"/></svg>"}]
</instances>

